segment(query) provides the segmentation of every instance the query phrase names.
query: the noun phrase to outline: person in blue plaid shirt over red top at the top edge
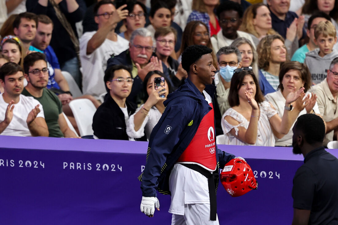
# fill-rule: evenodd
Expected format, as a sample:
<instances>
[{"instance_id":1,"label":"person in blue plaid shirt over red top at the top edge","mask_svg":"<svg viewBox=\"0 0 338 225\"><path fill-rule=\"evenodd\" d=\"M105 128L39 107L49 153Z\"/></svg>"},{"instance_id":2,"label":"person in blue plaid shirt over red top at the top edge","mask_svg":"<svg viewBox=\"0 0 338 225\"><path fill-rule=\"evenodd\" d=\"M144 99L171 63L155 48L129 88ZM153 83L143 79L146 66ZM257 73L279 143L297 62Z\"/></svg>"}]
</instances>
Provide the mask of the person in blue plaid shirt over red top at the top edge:
<instances>
[{"instance_id":1,"label":"person in blue plaid shirt over red top at the top edge","mask_svg":"<svg viewBox=\"0 0 338 225\"><path fill-rule=\"evenodd\" d=\"M188 17L188 23L201 21L207 25L210 36L216 35L221 29L214 12L218 4L219 0L192 0L192 12Z\"/></svg>"}]
</instances>

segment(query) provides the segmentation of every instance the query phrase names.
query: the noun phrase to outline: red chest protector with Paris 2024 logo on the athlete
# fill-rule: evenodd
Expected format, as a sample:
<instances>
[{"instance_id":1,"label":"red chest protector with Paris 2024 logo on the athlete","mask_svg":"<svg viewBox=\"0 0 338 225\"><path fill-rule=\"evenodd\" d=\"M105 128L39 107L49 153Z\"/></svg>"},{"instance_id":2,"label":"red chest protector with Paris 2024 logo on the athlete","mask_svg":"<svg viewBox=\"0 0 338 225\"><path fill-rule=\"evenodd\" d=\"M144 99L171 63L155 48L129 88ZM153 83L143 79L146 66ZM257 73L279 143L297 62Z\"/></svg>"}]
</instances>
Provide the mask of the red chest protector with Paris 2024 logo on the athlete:
<instances>
[{"instance_id":1,"label":"red chest protector with Paris 2024 logo on the athlete","mask_svg":"<svg viewBox=\"0 0 338 225\"><path fill-rule=\"evenodd\" d=\"M212 103L209 105L213 108ZM190 162L214 171L217 164L214 125L214 109L212 109L203 117L194 138L177 162Z\"/></svg>"}]
</instances>

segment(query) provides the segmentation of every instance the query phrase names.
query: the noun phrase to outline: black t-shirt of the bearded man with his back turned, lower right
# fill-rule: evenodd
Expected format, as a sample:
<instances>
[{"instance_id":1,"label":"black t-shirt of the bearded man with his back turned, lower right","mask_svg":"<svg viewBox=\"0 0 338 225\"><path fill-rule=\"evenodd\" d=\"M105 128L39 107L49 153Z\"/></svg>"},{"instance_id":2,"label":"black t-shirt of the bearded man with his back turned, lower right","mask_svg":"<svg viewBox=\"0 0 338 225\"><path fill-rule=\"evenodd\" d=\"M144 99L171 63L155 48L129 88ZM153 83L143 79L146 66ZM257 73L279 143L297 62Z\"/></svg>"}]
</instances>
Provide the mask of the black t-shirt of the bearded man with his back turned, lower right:
<instances>
[{"instance_id":1,"label":"black t-shirt of the bearded man with his back turned, lower right","mask_svg":"<svg viewBox=\"0 0 338 225\"><path fill-rule=\"evenodd\" d=\"M309 152L293 178L293 208L311 210L309 224L338 224L338 159L324 147Z\"/></svg>"}]
</instances>

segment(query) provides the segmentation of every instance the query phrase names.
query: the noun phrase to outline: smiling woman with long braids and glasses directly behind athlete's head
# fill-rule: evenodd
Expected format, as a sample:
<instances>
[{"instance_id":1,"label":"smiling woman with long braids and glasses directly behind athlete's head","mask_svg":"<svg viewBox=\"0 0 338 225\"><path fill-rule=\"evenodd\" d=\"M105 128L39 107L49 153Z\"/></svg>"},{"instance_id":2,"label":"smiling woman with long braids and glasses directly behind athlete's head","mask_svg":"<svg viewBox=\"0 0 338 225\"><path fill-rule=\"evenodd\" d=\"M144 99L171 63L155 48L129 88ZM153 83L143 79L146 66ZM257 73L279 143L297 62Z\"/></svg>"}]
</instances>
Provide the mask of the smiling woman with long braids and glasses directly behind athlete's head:
<instances>
[{"instance_id":1,"label":"smiling woman with long braids and glasses directly behind athlete's head","mask_svg":"<svg viewBox=\"0 0 338 225\"><path fill-rule=\"evenodd\" d=\"M204 45L210 49L212 48L210 41L210 33L206 24L200 21L191 21L187 24L186 28L183 31L181 48L177 54L178 62L181 61L180 55L183 51L191 45ZM213 58L213 65L215 68L218 68L217 58L214 52L211 53Z\"/></svg>"}]
</instances>

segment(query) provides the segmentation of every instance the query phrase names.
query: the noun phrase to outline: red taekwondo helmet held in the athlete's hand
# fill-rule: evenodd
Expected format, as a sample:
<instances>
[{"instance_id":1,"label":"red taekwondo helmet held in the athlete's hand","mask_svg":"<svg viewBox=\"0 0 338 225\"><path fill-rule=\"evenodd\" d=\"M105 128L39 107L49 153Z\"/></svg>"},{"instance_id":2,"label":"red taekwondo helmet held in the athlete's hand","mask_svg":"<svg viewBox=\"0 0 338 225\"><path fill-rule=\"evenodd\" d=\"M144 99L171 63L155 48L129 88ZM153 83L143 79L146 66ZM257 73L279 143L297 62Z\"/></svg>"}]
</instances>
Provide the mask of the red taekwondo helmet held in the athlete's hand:
<instances>
[{"instance_id":1,"label":"red taekwondo helmet held in the athlete's hand","mask_svg":"<svg viewBox=\"0 0 338 225\"><path fill-rule=\"evenodd\" d=\"M220 176L222 185L232 197L244 195L258 187L251 167L242 159L230 160Z\"/></svg>"}]
</instances>

